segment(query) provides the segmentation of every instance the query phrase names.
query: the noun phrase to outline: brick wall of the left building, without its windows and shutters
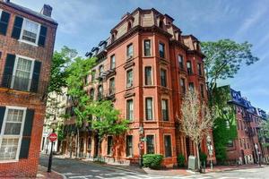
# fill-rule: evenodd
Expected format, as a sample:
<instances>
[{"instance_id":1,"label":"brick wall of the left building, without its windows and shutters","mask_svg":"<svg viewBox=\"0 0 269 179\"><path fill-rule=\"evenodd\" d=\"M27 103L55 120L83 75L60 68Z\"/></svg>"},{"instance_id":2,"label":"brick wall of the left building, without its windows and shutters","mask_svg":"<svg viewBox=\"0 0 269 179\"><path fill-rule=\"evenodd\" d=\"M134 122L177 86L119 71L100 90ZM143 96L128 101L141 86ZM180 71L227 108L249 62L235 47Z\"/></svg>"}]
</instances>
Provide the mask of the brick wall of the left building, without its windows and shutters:
<instances>
[{"instance_id":1,"label":"brick wall of the left building, without its windows and shutters","mask_svg":"<svg viewBox=\"0 0 269 179\"><path fill-rule=\"evenodd\" d=\"M49 81L49 73L50 73L50 65L51 58L54 49L54 42L56 36L56 21L53 21L50 17L47 17L41 13L35 13L31 10L24 8L18 4L13 4L9 2L0 1L0 10L5 13L9 13L9 21L7 23L6 34L0 35L0 107L25 107L27 110L30 109L33 111L32 123L24 123L24 128L21 128L21 133L24 135L25 130L30 130L30 135L27 137L30 140L30 145L25 149L24 153L26 156L21 158L22 149L17 149L17 153L20 153L20 158L6 159L0 160L0 175L1 176L20 176L20 177L34 177L37 174L38 164L39 164L39 146L40 139L42 136L42 128L43 121L45 117L45 109L46 104L43 100L43 95L48 86ZM1 13L0 13L1 14ZM20 39L12 38L14 21L16 17L25 18L30 21L34 21L40 24L40 26L44 26L47 28L47 33L45 33L45 45L44 47L29 43L25 43ZM23 21L25 21L23 19ZM40 27L39 26L39 27ZM22 31L21 31L22 33ZM38 32L40 35L40 31ZM38 37L37 37L38 38ZM40 37L39 37L40 38ZM31 64L31 68L33 68L32 73L35 72L35 67L33 66L36 62L39 62L40 68L38 72L37 83L34 84L33 76L29 77L30 89L33 85L37 86L36 91L21 91L20 89L13 89L13 85L9 84L8 86L3 85L3 81L5 78L4 71L6 68L6 59L7 55L17 55L25 56L26 58L34 59ZM13 67L13 74L14 67ZM14 77L16 78L16 77ZM15 81L15 80L13 80ZM8 81L11 82L11 81ZM21 81L22 82L22 81ZM21 83L22 84L22 83ZM13 86L13 87L12 87ZM6 114L5 110L5 114ZM26 112L27 114L27 112ZM27 121L28 115L26 115L25 121ZM3 122L4 118L0 117L0 120ZM26 126L30 124L30 126ZM22 123L23 126L23 123ZM2 130L1 130L2 128ZM0 126L1 130L1 138L4 138L4 123ZM23 131L23 132L22 132ZM24 139L24 136L22 137ZM1 142L1 139L0 139ZM4 144L2 144L4 145ZM22 146L27 146L27 144L23 143ZM0 143L1 147L1 143ZM3 147L4 149L4 147ZM5 148L8 149L8 148ZM5 150L4 149L4 150ZM1 155L6 155L6 153L2 153L4 151L0 151ZM1 157L0 157L1 158Z\"/></svg>"}]
</instances>

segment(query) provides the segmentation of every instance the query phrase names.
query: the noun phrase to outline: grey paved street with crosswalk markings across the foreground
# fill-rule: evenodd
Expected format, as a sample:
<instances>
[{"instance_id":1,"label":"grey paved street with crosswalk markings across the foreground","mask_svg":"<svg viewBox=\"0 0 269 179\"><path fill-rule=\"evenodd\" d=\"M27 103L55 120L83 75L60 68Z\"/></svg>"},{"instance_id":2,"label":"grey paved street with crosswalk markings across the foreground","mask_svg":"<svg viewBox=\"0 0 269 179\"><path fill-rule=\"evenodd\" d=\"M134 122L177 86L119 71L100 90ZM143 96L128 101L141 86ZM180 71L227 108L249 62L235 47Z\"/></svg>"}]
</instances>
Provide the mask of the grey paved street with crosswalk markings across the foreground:
<instances>
[{"instance_id":1,"label":"grey paved street with crosswalk markings across the foreground","mask_svg":"<svg viewBox=\"0 0 269 179\"><path fill-rule=\"evenodd\" d=\"M41 156L39 160L41 166L48 166L48 157ZM53 158L52 169L66 178L89 178L89 179L260 179L269 178L269 167L253 168L245 170L236 170L223 173L209 173L205 175L177 175L177 176L162 176L162 175L147 175L136 172L127 172L124 170L111 168L108 166L100 166L89 162L82 162L73 159Z\"/></svg>"}]
</instances>

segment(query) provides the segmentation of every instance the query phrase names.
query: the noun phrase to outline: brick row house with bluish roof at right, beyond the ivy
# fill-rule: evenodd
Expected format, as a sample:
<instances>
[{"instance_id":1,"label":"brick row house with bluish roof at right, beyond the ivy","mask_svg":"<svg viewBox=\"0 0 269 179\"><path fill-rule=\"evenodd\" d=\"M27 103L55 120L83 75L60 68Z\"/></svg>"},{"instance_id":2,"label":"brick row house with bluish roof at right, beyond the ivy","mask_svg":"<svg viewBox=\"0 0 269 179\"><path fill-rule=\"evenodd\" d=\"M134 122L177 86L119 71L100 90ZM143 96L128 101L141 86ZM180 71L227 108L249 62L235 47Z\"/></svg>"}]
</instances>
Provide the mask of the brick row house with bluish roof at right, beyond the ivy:
<instances>
[{"instance_id":1,"label":"brick row house with bluish roof at right, beyond the ivy","mask_svg":"<svg viewBox=\"0 0 269 179\"><path fill-rule=\"evenodd\" d=\"M267 158L267 150L263 152L258 137L262 118L257 108L253 107L247 98L242 97L240 91L232 90L230 86L221 88L226 88L230 96L227 102L234 108L238 134L234 141L228 143L228 159L239 164L253 164L259 161L260 155Z\"/></svg>"}]
</instances>

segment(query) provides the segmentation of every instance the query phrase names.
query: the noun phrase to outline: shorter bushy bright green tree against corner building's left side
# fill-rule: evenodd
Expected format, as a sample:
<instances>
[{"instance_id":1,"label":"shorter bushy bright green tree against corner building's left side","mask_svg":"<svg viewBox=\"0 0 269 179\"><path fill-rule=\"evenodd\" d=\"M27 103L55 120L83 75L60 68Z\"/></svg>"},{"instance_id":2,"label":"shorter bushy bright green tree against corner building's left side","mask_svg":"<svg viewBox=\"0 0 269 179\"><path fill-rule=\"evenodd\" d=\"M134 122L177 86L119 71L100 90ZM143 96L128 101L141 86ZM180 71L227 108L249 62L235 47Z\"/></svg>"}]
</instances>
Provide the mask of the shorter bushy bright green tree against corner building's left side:
<instances>
[{"instance_id":1,"label":"shorter bushy bright green tree against corner building's left side","mask_svg":"<svg viewBox=\"0 0 269 179\"><path fill-rule=\"evenodd\" d=\"M100 143L108 136L117 136L128 130L129 121L120 118L119 110L113 107L110 100L97 101L91 106L95 120L92 121L92 130L98 133L98 156L100 156Z\"/></svg>"}]
</instances>

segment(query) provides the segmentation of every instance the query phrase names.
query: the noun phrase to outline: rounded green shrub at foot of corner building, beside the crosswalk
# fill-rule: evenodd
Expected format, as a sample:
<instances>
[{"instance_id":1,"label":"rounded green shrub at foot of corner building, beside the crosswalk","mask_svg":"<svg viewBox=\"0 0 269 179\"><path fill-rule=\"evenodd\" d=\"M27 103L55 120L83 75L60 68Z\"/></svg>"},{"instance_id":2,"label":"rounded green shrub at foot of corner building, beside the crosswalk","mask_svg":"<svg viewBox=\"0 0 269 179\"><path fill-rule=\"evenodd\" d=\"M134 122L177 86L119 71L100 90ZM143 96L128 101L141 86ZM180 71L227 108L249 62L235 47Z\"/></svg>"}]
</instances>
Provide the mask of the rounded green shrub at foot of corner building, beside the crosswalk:
<instances>
[{"instance_id":1,"label":"rounded green shrub at foot of corner building, beside the crosswalk","mask_svg":"<svg viewBox=\"0 0 269 179\"><path fill-rule=\"evenodd\" d=\"M161 168L161 161L163 156L160 154L145 154L143 155L143 166L152 169Z\"/></svg>"}]
</instances>

